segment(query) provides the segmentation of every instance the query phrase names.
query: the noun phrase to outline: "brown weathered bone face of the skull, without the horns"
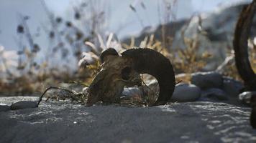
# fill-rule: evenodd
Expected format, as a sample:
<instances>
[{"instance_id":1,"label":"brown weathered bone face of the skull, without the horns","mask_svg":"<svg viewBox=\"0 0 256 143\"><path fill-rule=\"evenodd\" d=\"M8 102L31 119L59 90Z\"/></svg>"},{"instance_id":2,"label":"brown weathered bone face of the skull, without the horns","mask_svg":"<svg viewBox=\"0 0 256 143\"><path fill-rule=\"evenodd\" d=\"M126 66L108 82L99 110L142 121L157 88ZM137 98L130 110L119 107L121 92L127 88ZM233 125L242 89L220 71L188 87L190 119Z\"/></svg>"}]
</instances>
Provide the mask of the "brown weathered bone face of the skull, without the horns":
<instances>
[{"instance_id":1,"label":"brown weathered bone face of the skull, without the horns","mask_svg":"<svg viewBox=\"0 0 256 143\"><path fill-rule=\"evenodd\" d=\"M98 101L119 103L124 86L141 85L140 74L132 69L132 60L118 55L104 57L101 70L88 89L87 105Z\"/></svg>"}]
</instances>

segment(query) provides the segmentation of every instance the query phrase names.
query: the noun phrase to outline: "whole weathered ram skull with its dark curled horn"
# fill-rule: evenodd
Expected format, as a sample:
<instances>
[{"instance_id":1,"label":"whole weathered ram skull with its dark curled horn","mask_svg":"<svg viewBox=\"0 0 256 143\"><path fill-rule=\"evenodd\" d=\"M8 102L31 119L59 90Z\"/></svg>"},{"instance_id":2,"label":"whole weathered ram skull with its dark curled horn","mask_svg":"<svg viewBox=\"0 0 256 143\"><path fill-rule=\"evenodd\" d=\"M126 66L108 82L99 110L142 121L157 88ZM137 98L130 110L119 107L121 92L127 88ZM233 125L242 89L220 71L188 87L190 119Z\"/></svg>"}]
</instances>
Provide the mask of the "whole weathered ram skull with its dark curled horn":
<instances>
[{"instance_id":1,"label":"whole weathered ram skull with its dark curled horn","mask_svg":"<svg viewBox=\"0 0 256 143\"><path fill-rule=\"evenodd\" d=\"M157 79L160 93L154 105L165 104L173 94L175 77L170 61L152 49L129 49L122 56L115 49L101 53L101 70L88 88L87 106L98 101L118 103L124 86L140 85L140 74Z\"/></svg>"}]
</instances>

